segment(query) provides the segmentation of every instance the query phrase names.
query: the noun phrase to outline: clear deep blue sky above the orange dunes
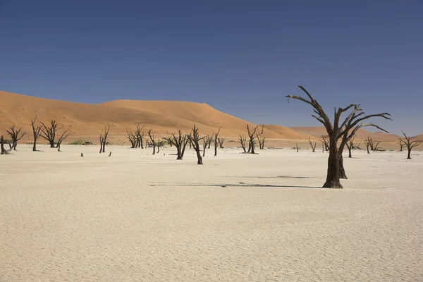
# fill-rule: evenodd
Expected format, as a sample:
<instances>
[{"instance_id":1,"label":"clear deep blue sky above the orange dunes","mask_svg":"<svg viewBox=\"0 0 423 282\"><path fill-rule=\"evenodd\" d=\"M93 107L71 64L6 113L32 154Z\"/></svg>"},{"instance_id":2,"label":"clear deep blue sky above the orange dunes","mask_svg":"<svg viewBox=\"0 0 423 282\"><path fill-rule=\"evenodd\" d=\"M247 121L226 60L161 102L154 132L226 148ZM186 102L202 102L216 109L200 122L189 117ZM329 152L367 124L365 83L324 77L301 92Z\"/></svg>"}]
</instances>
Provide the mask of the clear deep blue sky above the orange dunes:
<instances>
[{"instance_id":1,"label":"clear deep blue sky above the orange dunes","mask_svg":"<svg viewBox=\"0 0 423 282\"><path fill-rule=\"evenodd\" d=\"M73 102L204 102L254 123L319 125L361 103L423 133L421 0L0 0L0 90Z\"/></svg>"}]
</instances>

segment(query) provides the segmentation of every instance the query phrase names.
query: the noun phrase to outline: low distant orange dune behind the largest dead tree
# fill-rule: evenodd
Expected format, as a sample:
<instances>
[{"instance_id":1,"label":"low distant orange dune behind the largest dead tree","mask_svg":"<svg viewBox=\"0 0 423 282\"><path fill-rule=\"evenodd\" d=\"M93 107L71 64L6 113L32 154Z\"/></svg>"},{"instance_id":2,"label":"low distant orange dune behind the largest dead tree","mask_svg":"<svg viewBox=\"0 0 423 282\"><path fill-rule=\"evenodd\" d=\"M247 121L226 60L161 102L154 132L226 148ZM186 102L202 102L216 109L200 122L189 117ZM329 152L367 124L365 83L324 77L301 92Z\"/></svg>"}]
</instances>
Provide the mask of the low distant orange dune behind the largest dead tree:
<instances>
[{"instance_id":1,"label":"low distant orange dune behind the largest dead tree","mask_svg":"<svg viewBox=\"0 0 423 282\"><path fill-rule=\"evenodd\" d=\"M322 135L327 135L326 129L323 126L314 126L314 127L292 127L292 130L295 130L298 133L304 133L312 135L315 137L321 137ZM384 132L371 133L364 128L357 130L357 140L364 140L367 137L372 138L373 140L381 142L394 142L398 140L398 135L388 134Z\"/></svg>"}]
</instances>

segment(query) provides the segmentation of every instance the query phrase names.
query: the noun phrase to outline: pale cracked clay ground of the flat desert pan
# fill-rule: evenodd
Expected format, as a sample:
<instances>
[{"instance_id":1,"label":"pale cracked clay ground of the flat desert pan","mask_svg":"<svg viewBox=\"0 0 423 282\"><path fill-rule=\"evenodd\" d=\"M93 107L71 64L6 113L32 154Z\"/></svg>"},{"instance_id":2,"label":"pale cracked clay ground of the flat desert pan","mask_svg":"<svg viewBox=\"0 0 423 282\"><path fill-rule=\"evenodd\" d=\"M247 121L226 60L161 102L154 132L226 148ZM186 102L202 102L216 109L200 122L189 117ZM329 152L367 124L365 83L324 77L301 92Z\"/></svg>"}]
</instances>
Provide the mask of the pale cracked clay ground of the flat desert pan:
<instances>
[{"instance_id":1,"label":"pale cracked clay ground of the flat desert pan","mask_svg":"<svg viewBox=\"0 0 423 282\"><path fill-rule=\"evenodd\" d=\"M0 281L423 281L423 154L1 156ZM80 153L84 157L80 157Z\"/></svg>"}]
</instances>

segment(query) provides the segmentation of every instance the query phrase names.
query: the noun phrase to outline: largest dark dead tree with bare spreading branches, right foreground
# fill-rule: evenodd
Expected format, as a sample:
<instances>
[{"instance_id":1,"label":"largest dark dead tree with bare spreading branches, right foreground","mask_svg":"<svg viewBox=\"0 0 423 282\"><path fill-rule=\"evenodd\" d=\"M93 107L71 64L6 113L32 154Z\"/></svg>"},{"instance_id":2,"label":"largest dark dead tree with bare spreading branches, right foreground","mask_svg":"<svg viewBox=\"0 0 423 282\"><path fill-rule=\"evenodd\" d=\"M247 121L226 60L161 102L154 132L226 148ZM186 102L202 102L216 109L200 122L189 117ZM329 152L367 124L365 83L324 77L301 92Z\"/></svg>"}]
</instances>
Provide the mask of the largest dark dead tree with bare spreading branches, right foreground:
<instances>
[{"instance_id":1,"label":"largest dark dead tree with bare spreading branches, right foreground","mask_svg":"<svg viewBox=\"0 0 423 282\"><path fill-rule=\"evenodd\" d=\"M369 118L373 117L382 117L388 120L390 114L388 113L381 113L381 114L370 114L366 115L360 108L359 104L350 104L345 108L335 108L335 113L333 117L333 123L329 120L329 117L326 115L320 104L317 102L316 99L312 97L304 87L299 86L300 89L307 94L308 99L305 99L300 96L296 95L287 95L288 101L290 99L297 99L302 102L305 102L313 107L314 114L312 114L313 118L316 118L317 121L322 123L326 128L326 132L329 135L329 158L328 158L328 170L326 175L326 182L324 183L324 188L343 188L340 181L341 176L341 166L343 167L342 161L342 149L345 147L346 142L350 140L359 128L363 126L374 126L379 128L378 125L374 125L372 123L364 124L362 121L365 121ZM341 115L345 112L350 111L350 114L345 118L344 121L341 121ZM381 129L381 128L379 128ZM381 129L383 130L383 129ZM386 130L384 130L386 131ZM342 138L342 143L340 145L341 154L338 151L338 140ZM345 144L343 144L345 143Z\"/></svg>"}]
</instances>

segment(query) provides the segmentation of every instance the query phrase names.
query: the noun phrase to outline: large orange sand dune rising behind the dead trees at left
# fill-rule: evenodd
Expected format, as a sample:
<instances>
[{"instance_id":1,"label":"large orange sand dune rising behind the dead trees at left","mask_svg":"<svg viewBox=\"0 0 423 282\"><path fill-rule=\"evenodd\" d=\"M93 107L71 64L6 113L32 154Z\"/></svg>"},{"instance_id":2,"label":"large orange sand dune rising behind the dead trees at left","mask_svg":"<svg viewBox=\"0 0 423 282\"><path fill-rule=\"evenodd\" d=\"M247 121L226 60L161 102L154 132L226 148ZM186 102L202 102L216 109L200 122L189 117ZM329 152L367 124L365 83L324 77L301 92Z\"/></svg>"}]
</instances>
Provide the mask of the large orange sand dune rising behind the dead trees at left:
<instances>
[{"instance_id":1,"label":"large orange sand dune rising behind the dead trees at left","mask_svg":"<svg viewBox=\"0 0 423 282\"><path fill-rule=\"evenodd\" d=\"M118 100L82 104L0 91L2 135L13 123L29 132L30 120L36 115L37 120L43 122L56 118L65 128L71 126L73 135L80 136L98 136L105 125L111 125L111 135L125 135L125 128L137 124L145 125L146 130L152 128L157 134L178 129L189 131L196 124L202 134L212 134L221 127L222 136L238 137L247 135L245 126L249 123L207 104L194 102ZM250 125L255 126L253 123ZM273 139L308 139L308 135L295 133L288 128L272 128L266 128L263 136Z\"/></svg>"}]
</instances>

